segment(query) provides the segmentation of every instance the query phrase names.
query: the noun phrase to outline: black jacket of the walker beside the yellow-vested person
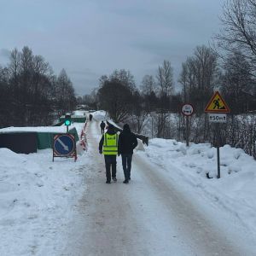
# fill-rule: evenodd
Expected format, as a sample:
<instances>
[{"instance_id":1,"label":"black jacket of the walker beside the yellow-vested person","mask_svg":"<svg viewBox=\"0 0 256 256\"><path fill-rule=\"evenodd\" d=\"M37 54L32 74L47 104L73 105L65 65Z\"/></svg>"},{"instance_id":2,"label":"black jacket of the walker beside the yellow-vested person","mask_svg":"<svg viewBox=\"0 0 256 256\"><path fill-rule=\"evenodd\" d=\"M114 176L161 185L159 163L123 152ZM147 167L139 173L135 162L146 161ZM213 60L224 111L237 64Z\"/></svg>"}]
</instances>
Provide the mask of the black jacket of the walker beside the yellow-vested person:
<instances>
[{"instance_id":1,"label":"black jacket of the walker beside the yellow-vested person","mask_svg":"<svg viewBox=\"0 0 256 256\"><path fill-rule=\"evenodd\" d=\"M132 154L137 147L137 137L129 128L119 134L119 154Z\"/></svg>"}]
</instances>

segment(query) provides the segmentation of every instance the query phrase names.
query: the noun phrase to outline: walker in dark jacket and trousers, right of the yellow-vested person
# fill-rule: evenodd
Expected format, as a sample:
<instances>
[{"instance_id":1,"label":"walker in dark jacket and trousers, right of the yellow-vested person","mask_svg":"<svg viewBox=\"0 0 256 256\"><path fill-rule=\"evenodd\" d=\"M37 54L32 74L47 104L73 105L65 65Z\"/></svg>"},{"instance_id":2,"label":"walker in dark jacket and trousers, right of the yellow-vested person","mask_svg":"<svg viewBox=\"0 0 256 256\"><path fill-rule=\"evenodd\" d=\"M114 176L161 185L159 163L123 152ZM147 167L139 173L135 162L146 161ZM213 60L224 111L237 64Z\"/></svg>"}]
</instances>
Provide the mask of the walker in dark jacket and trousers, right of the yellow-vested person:
<instances>
[{"instance_id":1,"label":"walker in dark jacket and trousers, right of the yellow-vested person","mask_svg":"<svg viewBox=\"0 0 256 256\"><path fill-rule=\"evenodd\" d=\"M137 147L137 137L131 132L129 125L125 124L119 134L119 154L122 155L122 165L125 175L124 183L131 179L131 160L133 149Z\"/></svg>"}]
</instances>

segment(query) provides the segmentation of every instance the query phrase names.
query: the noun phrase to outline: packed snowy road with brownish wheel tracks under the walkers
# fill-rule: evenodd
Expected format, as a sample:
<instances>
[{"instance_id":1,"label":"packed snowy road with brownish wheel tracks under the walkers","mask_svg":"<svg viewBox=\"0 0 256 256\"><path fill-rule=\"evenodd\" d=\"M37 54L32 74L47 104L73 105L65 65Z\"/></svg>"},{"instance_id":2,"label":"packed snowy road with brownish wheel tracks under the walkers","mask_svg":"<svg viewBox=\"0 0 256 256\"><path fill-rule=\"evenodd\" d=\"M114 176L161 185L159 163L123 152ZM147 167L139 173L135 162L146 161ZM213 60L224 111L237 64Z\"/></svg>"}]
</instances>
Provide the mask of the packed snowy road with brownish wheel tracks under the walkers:
<instances>
[{"instance_id":1,"label":"packed snowy road with brownish wheel tracks under the walkers","mask_svg":"<svg viewBox=\"0 0 256 256\"><path fill-rule=\"evenodd\" d=\"M228 240L198 212L189 195L136 154L131 183L122 183L118 158L118 182L106 184L96 121L87 134L86 189L61 255L253 255Z\"/></svg>"}]
</instances>

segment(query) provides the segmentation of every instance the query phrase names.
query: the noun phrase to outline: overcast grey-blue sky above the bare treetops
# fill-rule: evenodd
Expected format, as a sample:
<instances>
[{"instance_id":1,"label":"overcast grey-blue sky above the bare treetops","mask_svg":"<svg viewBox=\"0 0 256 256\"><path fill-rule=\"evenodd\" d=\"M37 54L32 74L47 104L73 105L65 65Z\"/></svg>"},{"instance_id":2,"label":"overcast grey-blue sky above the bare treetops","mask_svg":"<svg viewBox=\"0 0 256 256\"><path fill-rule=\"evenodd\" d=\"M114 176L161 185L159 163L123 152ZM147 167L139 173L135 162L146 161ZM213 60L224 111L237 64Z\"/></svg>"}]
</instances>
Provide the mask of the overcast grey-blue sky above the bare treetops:
<instances>
[{"instance_id":1,"label":"overcast grey-blue sky above the bare treetops","mask_svg":"<svg viewBox=\"0 0 256 256\"><path fill-rule=\"evenodd\" d=\"M175 83L197 45L218 32L224 0L0 0L0 64L29 46L56 74L65 68L78 96L103 74L125 68L137 86L171 61Z\"/></svg>"}]
</instances>

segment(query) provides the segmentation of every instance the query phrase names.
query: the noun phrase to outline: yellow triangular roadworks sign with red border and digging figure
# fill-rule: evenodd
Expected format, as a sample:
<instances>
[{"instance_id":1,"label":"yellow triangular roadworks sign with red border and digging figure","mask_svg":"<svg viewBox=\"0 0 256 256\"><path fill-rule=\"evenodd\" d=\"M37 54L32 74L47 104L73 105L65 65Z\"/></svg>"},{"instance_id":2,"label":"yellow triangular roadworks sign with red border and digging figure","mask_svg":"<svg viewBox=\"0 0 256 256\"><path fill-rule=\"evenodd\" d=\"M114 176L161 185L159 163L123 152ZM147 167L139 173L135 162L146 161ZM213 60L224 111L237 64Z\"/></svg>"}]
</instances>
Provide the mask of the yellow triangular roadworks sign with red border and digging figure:
<instances>
[{"instance_id":1,"label":"yellow triangular roadworks sign with red border and digging figure","mask_svg":"<svg viewBox=\"0 0 256 256\"><path fill-rule=\"evenodd\" d=\"M224 102L223 97L219 94L218 91L214 93L212 99L207 104L207 108L205 108L205 112L209 113L230 113L230 108Z\"/></svg>"}]
</instances>

